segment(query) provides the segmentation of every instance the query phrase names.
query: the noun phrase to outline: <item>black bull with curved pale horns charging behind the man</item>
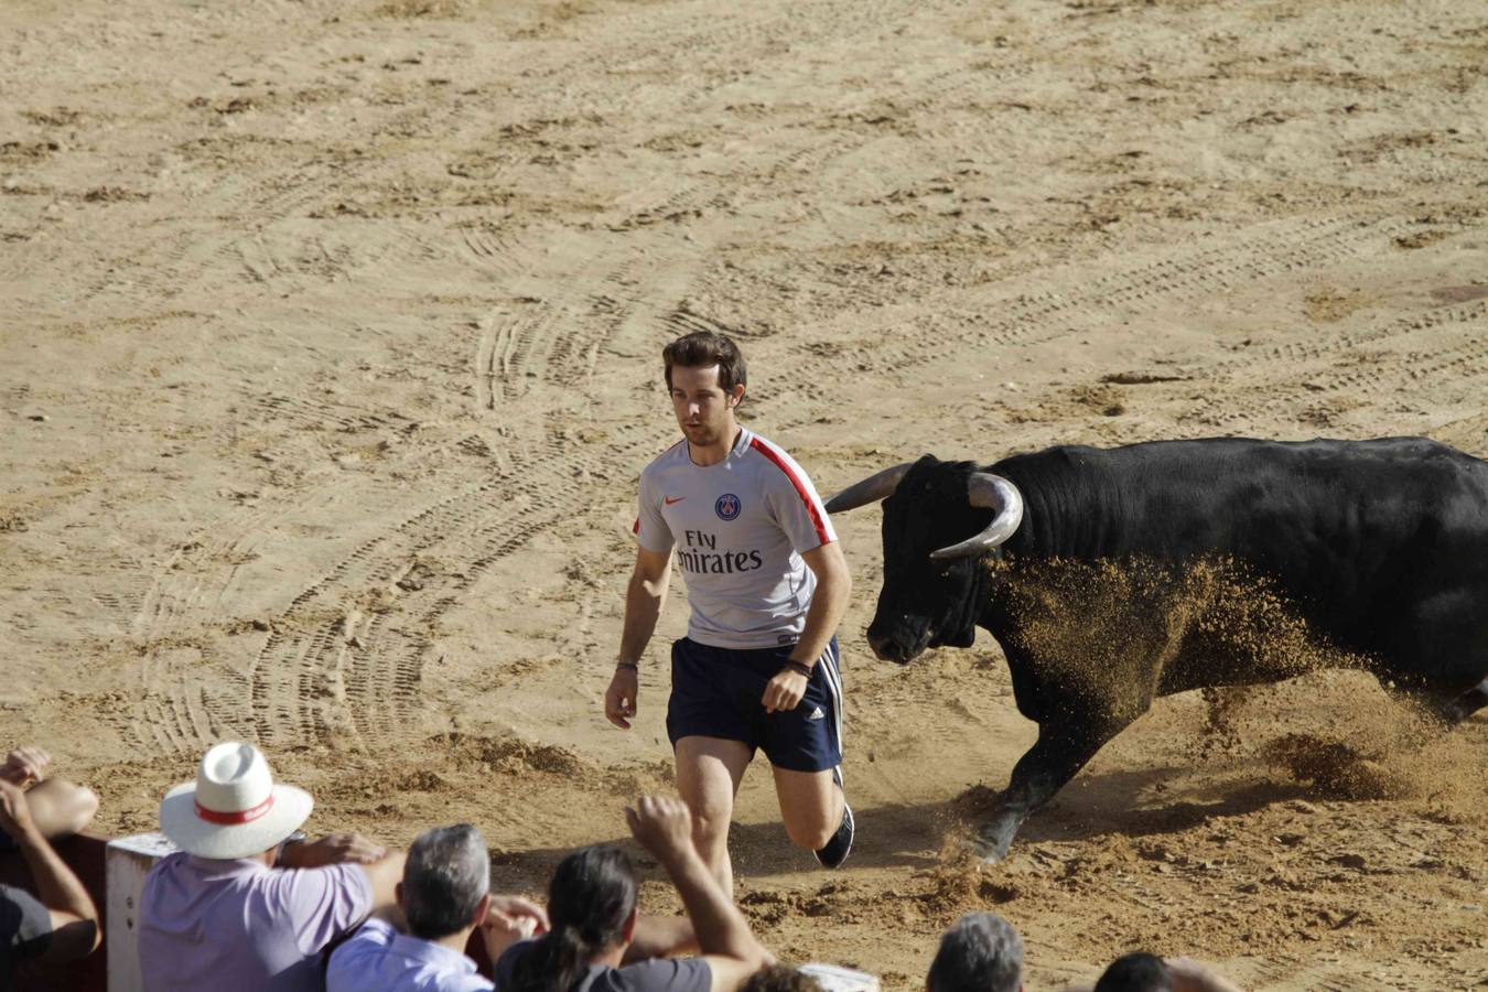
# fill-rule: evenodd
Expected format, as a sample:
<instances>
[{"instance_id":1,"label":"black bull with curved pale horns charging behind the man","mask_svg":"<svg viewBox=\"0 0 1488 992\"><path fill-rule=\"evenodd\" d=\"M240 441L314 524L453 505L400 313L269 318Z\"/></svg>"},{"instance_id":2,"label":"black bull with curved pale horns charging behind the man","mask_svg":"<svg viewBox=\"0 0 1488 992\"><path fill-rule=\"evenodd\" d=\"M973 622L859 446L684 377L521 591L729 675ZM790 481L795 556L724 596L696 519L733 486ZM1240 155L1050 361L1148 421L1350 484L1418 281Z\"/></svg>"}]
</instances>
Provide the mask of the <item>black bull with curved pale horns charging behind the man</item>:
<instances>
[{"instance_id":1,"label":"black bull with curved pale horns charging behind the man","mask_svg":"<svg viewBox=\"0 0 1488 992\"><path fill-rule=\"evenodd\" d=\"M984 857L1155 696L1347 657L1446 720L1488 703L1488 463L1436 442L926 455L827 510L873 500L873 651L902 663L985 628L1039 724L979 827Z\"/></svg>"}]
</instances>

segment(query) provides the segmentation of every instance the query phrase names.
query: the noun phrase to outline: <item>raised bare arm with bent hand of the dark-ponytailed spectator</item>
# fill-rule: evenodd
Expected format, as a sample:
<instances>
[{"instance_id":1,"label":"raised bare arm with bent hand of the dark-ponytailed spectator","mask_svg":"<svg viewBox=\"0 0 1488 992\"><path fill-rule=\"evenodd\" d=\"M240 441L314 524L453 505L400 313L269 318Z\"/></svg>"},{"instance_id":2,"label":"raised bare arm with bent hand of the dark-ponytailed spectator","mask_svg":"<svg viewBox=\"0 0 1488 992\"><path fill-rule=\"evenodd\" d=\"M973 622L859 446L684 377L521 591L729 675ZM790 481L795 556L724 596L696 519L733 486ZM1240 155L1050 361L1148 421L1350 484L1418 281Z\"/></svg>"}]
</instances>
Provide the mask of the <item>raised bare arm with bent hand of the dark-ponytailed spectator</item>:
<instances>
[{"instance_id":1,"label":"raised bare arm with bent hand of the dark-ponytailed spectator","mask_svg":"<svg viewBox=\"0 0 1488 992\"><path fill-rule=\"evenodd\" d=\"M680 799L643 796L634 809L625 811L625 819L677 886L713 976L711 992L735 992L769 961L769 952L698 857L687 805Z\"/></svg>"}]
</instances>

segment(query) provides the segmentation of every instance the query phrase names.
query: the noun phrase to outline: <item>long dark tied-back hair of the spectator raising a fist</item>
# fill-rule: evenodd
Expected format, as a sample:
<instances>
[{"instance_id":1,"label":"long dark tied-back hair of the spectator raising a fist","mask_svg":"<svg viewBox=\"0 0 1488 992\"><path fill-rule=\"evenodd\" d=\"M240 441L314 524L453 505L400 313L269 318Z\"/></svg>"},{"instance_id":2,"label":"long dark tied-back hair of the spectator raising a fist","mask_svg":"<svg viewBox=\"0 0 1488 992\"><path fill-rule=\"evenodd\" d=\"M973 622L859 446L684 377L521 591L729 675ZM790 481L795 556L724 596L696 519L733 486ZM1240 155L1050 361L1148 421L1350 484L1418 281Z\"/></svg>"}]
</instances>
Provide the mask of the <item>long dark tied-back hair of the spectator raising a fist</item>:
<instances>
[{"instance_id":1,"label":"long dark tied-back hair of the spectator raising a fist","mask_svg":"<svg viewBox=\"0 0 1488 992\"><path fill-rule=\"evenodd\" d=\"M591 958L623 940L634 909L635 872L623 851L574 851L548 883L552 928L516 961L509 992L567 992Z\"/></svg>"}]
</instances>

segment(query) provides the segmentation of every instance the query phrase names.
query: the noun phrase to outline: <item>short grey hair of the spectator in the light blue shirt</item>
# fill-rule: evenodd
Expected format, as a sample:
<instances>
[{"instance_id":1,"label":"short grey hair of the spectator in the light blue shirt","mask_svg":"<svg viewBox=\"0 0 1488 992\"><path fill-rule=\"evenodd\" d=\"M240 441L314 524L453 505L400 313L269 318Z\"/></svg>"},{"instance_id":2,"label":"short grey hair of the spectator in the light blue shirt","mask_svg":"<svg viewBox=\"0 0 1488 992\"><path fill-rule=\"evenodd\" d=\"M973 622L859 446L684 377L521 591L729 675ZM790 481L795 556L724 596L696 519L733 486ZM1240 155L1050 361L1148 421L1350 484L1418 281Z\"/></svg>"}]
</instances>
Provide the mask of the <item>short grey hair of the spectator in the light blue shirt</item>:
<instances>
[{"instance_id":1,"label":"short grey hair of the spectator in the light blue shirt","mask_svg":"<svg viewBox=\"0 0 1488 992\"><path fill-rule=\"evenodd\" d=\"M470 824L426 830L408 849L403 915L415 937L440 940L464 930L490 891L491 855Z\"/></svg>"}]
</instances>

